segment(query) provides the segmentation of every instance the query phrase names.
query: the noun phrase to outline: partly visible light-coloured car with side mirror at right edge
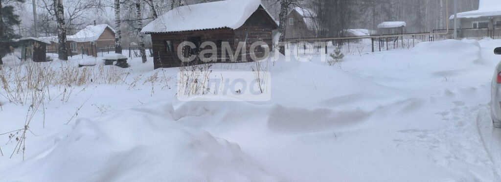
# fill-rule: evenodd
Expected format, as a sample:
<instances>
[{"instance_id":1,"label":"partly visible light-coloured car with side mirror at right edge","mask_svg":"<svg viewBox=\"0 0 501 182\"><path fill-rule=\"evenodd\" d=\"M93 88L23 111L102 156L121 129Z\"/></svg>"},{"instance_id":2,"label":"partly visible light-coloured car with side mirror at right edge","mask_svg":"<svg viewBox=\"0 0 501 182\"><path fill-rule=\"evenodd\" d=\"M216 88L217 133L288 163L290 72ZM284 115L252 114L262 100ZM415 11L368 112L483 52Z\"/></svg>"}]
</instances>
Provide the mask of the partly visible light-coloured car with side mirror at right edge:
<instances>
[{"instance_id":1,"label":"partly visible light-coloured car with side mirror at right edge","mask_svg":"<svg viewBox=\"0 0 501 182\"><path fill-rule=\"evenodd\" d=\"M494 49L494 54L501 54L501 47ZM496 128L501 128L501 62L499 62L490 84L490 117Z\"/></svg>"}]
</instances>

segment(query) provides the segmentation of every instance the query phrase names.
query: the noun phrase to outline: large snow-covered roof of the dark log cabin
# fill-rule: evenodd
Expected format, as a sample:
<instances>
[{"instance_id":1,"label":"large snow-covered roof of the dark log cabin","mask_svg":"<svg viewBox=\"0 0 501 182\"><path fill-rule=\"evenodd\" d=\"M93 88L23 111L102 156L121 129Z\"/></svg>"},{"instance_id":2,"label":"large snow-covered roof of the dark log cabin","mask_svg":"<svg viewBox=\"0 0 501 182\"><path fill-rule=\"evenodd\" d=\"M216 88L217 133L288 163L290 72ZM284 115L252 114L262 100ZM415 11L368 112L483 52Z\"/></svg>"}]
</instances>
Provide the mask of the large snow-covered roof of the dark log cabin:
<instances>
[{"instance_id":1,"label":"large snow-covered roof of the dark log cabin","mask_svg":"<svg viewBox=\"0 0 501 182\"><path fill-rule=\"evenodd\" d=\"M260 6L264 7L261 0L226 0L178 7L146 25L141 32L167 33L221 28L237 29ZM271 14L266 12L275 23Z\"/></svg>"}]
</instances>

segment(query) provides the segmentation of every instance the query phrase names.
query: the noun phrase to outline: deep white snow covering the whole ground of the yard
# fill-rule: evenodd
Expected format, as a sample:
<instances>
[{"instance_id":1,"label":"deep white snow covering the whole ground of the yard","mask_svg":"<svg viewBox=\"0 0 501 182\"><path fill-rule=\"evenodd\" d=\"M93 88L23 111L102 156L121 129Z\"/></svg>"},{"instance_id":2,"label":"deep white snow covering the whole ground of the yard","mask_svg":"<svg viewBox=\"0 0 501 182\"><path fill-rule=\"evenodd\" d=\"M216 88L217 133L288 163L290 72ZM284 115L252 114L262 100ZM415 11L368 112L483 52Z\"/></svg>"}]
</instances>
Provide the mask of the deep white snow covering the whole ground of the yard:
<instances>
[{"instance_id":1,"label":"deep white snow covering the whole ground of the yard","mask_svg":"<svg viewBox=\"0 0 501 182\"><path fill-rule=\"evenodd\" d=\"M499 46L425 42L347 55L335 66L319 55L281 57L263 63L272 76L267 102L178 101L179 69L153 70L152 58L126 69L79 68L109 74L51 87L52 100L29 125L24 160L15 150L22 130L9 131L24 130L37 107L0 95L0 134L8 132L0 135L0 181L500 181L501 129L488 107ZM76 67L79 58L40 64ZM104 84L96 75L120 79Z\"/></svg>"}]
</instances>

